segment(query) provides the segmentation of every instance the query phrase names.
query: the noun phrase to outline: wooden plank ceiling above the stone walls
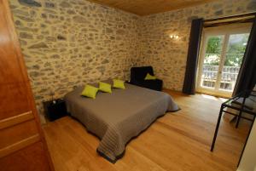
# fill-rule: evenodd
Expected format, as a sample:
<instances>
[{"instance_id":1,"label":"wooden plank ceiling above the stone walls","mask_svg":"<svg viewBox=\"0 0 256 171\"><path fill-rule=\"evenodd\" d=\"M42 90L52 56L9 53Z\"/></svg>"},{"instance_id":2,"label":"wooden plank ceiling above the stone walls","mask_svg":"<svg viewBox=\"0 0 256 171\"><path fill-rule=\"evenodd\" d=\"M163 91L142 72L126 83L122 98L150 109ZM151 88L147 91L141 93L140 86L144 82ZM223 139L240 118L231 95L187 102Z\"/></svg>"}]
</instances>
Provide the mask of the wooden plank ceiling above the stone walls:
<instances>
[{"instance_id":1,"label":"wooden plank ceiling above the stone walls","mask_svg":"<svg viewBox=\"0 0 256 171\"><path fill-rule=\"evenodd\" d=\"M89 0L127 12L148 15L210 3L216 0Z\"/></svg>"}]
</instances>

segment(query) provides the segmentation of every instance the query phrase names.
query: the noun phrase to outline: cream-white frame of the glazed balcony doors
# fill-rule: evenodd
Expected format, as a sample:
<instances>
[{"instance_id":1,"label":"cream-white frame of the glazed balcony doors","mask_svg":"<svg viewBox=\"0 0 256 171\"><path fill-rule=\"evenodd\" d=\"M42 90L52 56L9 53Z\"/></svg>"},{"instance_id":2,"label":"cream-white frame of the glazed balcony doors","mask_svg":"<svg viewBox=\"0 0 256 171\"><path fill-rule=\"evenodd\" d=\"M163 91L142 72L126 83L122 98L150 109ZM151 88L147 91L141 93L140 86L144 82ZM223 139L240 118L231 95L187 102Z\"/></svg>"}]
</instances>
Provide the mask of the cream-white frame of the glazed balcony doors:
<instances>
[{"instance_id":1,"label":"cream-white frame of the glazed balcony doors","mask_svg":"<svg viewBox=\"0 0 256 171\"><path fill-rule=\"evenodd\" d=\"M226 57L225 55L226 55L226 50L228 48L230 35L250 32L252 29L252 25L253 25L252 23L241 23L241 24L231 24L229 26L214 26L214 27L208 27L203 29L202 37L201 37L202 39L201 48L200 48L201 50L199 54L199 62L197 67L196 84L195 84L195 90L197 93L211 94L211 95L216 95L216 96L225 97L225 98L230 98L232 96L232 92L219 89L221 76L222 76L221 74L224 67L224 61ZM220 67L218 67L217 82L215 83L215 88L202 88L201 87L201 77L202 77L201 66L203 66L203 62L205 59L208 38L211 36L217 36L217 35L224 35L221 59L218 65Z\"/></svg>"}]
</instances>

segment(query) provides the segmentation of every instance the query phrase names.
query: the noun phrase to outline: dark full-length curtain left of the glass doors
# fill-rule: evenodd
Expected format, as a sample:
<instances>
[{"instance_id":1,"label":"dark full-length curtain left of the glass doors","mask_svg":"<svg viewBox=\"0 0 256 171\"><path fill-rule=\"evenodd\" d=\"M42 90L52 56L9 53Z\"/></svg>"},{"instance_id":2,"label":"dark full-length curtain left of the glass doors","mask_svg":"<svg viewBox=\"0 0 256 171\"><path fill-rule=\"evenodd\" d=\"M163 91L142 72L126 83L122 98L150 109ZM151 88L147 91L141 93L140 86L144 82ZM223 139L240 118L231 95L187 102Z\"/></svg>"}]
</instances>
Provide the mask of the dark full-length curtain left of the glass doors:
<instances>
[{"instance_id":1,"label":"dark full-length curtain left of the glass doors","mask_svg":"<svg viewBox=\"0 0 256 171\"><path fill-rule=\"evenodd\" d=\"M203 20L192 20L192 26L189 37L189 52L186 66L186 73L183 82L184 94L195 94L195 77L199 48L201 43L201 32L203 29Z\"/></svg>"}]
</instances>

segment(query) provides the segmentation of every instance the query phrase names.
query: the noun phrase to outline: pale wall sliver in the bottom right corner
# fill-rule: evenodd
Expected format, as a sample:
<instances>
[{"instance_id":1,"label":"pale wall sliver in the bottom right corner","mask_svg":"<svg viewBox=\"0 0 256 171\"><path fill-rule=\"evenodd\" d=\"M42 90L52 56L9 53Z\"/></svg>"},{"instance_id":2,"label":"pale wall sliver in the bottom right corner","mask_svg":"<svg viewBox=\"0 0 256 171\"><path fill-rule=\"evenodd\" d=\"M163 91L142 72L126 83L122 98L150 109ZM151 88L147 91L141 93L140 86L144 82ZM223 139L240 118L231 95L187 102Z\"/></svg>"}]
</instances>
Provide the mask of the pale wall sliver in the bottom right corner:
<instances>
[{"instance_id":1,"label":"pale wall sliver in the bottom right corner","mask_svg":"<svg viewBox=\"0 0 256 171\"><path fill-rule=\"evenodd\" d=\"M247 146L241 157L237 171L256 171L256 122L247 140Z\"/></svg>"}]
</instances>

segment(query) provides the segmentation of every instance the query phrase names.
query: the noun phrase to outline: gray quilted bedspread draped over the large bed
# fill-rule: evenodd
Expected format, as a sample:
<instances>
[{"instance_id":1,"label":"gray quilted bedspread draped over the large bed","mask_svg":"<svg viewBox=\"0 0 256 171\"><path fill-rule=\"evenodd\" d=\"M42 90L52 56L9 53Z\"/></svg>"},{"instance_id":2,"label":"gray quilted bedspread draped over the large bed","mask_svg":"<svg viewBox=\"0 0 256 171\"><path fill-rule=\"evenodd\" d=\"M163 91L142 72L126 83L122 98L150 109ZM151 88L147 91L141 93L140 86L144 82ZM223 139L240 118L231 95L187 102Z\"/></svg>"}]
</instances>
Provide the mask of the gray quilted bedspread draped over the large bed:
<instances>
[{"instance_id":1,"label":"gray quilted bedspread draped over the large bed","mask_svg":"<svg viewBox=\"0 0 256 171\"><path fill-rule=\"evenodd\" d=\"M110 162L116 162L131 138L166 113L179 108L169 94L125 83L125 89L98 93L96 100L82 97L84 87L65 96L67 111L100 139L97 151Z\"/></svg>"}]
</instances>

